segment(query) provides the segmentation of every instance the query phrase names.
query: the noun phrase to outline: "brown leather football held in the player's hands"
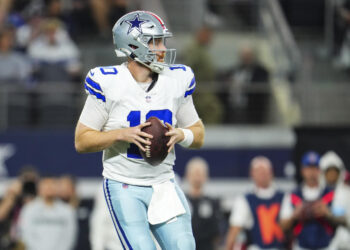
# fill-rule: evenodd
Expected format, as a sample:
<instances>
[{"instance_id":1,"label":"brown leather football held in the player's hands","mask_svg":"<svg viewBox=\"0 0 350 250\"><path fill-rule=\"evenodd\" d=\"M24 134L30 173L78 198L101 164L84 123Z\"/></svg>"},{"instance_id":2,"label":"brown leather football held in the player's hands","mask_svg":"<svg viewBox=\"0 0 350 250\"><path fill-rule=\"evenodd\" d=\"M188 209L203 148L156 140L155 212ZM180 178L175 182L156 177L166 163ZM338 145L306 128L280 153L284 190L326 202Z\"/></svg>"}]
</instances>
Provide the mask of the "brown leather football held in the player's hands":
<instances>
[{"instance_id":1,"label":"brown leather football held in the player's hands","mask_svg":"<svg viewBox=\"0 0 350 250\"><path fill-rule=\"evenodd\" d=\"M165 136L168 128L155 116L148 118L146 122L150 122L151 125L142 128L142 131L153 135L153 138L148 139L151 140L150 146L144 145L146 152L140 150L140 153L146 162L152 166L157 166L168 155L168 146L166 144L169 142L170 137Z\"/></svg>"}]
</instances>

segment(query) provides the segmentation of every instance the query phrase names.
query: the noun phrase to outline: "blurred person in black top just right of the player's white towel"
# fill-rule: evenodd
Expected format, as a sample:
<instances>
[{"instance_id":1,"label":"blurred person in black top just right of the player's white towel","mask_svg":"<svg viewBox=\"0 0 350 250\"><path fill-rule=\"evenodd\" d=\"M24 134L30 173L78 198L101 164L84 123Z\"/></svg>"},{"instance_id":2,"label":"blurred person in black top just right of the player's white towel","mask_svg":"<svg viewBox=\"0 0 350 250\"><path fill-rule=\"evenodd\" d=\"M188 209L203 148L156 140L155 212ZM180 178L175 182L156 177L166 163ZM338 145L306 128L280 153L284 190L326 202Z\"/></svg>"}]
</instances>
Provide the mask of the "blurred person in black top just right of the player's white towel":
<instances>
[{"instance_id":1,"label":"blurred person in black top just right of the player's white towel","mask_svg":"<svg viewBox=\"0 0 350 250\"><path fill-rule=\"evenodd\" d=\"M196 249L217 249L220 239L220 203L217 199L204 194L204 185L208 179L208 163L200 157L192 158L186 165L186 180L189 191L186 194L192 214L192 229L196 240Z\"/></svg>"}]
</instances>

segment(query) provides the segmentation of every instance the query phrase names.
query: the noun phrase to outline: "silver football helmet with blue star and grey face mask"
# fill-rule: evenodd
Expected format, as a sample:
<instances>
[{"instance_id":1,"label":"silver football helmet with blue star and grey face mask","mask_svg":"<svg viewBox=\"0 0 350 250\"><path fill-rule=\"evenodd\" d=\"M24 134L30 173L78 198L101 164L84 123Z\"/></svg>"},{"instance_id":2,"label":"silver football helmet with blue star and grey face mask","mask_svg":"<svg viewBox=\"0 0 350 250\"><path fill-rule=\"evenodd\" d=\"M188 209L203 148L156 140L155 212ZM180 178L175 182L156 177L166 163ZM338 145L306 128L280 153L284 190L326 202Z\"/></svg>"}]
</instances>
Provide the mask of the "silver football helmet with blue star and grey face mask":
<instances>
[{"instance_id":1,"label":"silver football helmet with blue star and grey face mask","mask_svg":"<svg viewBox=\"0 0 350 250\"><path fill-rule=\"evenodd\" d=\"M154 50L149 44L155 39L172 37L172 33L165 27L163 20L149 11L134 11L122 16L114 25L113 43L118 57L130 57L145 65L156 73L160 73L164 67L173 64L176 57L176 49ZM164 58L158 60L156 53L163 52Z\"/></svg>"}]
</instances>

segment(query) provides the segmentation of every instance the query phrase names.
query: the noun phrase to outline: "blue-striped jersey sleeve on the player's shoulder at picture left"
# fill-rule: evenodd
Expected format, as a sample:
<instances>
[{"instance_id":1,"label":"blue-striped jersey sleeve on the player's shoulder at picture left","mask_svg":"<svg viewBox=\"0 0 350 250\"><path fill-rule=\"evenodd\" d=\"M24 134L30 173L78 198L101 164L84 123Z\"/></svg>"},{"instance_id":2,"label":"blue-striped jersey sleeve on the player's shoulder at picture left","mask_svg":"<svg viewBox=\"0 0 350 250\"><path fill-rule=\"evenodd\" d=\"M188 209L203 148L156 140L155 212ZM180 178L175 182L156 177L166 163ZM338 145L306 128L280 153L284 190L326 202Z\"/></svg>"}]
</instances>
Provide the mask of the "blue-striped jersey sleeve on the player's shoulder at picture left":
<instances>
[{"instance_id":1,"label":"blue-striped jersey sleeve on the player's shoulder at picture left","mask_svg":"<svg viewBox=\"0 0 350 250\"><path fill-rule=\"evenodd\" d=\"M99 77L97 68L91 69L86 75L84 88L88 95L96 98L101 103L106 103L106 95L102 88L102 78Z\"/></svg>"}]
</instances>

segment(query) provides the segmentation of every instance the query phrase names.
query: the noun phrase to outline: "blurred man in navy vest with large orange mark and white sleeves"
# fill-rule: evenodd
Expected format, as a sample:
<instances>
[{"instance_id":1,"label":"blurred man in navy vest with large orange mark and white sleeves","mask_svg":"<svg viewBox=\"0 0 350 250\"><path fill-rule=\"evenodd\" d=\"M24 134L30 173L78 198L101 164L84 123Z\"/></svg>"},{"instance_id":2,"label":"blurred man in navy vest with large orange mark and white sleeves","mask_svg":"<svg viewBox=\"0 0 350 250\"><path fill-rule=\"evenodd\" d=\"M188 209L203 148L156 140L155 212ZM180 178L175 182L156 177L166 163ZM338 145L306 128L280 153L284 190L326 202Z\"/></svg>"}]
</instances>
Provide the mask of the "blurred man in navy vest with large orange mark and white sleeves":
<instances>
[{"instance_id":1,"label":"blurred man in navy vest with large orange mark and white sleeves","mask_svg":"<svg viewBox=\"0 0 350 250\"><path fill-rule=\"evenodd\" d=\"M278 225L283 193L273 184L273 169L264 156L253 158L250 176L254 182L253 192L237 197L230 216L230 229L226 250L242 244L238 236L247 231L248 249L281 249L284 243L282 229Z\"/></svg>"}]
</instances>

